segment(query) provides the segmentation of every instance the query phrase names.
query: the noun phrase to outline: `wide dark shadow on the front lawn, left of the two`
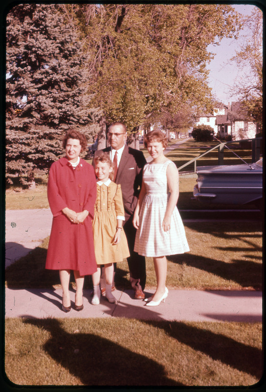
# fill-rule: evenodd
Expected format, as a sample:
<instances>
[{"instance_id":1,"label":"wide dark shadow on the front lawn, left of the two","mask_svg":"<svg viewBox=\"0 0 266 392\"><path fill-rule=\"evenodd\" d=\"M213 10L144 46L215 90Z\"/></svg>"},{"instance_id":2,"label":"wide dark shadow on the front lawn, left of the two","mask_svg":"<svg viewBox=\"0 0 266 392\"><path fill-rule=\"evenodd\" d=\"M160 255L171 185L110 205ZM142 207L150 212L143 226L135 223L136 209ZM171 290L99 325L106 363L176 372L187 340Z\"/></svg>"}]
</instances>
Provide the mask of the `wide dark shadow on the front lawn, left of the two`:
<instances>
[{"instance_id":1,"label":"wide dark shadow on the front lawn, left of the two","mask_svg":"<svg viewBox=\"0 0 266 392\"><path fill-rule=\"evenodd\" d=\"M45 351L84 385L182 385L169 379L162 365L105 338L70 334L56 319L24 322L50 332Z\"/></svg>"}]
</instances>

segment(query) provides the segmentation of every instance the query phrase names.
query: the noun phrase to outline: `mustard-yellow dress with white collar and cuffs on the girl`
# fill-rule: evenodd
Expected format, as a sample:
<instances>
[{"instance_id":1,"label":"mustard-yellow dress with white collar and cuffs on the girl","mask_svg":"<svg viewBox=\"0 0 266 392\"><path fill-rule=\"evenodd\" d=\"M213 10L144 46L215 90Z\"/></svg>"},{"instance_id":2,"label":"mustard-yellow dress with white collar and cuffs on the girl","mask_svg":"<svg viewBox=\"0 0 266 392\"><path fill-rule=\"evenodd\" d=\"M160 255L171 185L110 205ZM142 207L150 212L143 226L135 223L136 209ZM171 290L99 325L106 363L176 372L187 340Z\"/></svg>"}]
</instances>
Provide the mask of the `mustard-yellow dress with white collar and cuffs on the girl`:
<instances>
[{"instance_id":1,"label":"mustard-yellow dress with white collar and cuffs on the girl","mask_svg":"<svg viewBox=\"0 0 266 392\"><path fill-rule=\"evenodd\" d=\"M117 230L117 219L120 217L124 217L121 185L111 180L105 183L98 181L93 220L97 265L117 263L130 256L123 230L121 230L120 242L113 244Z\"/></svg>"}]
</instances>

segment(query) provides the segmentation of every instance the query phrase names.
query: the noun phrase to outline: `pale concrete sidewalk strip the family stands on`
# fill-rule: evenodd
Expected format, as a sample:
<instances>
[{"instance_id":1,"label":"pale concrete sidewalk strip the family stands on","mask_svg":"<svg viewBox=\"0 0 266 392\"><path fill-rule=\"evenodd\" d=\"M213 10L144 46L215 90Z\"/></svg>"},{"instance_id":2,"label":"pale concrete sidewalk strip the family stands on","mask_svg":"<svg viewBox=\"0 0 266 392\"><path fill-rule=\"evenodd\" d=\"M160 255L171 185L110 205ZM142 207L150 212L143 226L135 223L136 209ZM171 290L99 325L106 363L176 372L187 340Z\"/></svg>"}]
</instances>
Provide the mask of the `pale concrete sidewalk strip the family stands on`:
<instances>
[{"instance_id":1,"label":"pale concrete sidewalk strip the family stands on","mask_svg":"<svg viewBox=\"0 0 266 392\"><path fill-rule=\"evenodd\" d=\"M153 291L145 290L146 296ZM62 290L6 289L6 318L110 318L187 321L262 321L262 293L256 291L169 290L165 303L147 307L143 300L134 299L132 290L116 290L117 304L101 297L92 305L91 290L84 290L84 309L61 310ZM71 291L72 306L75 292Z\"/></svg>"}]
</instances>

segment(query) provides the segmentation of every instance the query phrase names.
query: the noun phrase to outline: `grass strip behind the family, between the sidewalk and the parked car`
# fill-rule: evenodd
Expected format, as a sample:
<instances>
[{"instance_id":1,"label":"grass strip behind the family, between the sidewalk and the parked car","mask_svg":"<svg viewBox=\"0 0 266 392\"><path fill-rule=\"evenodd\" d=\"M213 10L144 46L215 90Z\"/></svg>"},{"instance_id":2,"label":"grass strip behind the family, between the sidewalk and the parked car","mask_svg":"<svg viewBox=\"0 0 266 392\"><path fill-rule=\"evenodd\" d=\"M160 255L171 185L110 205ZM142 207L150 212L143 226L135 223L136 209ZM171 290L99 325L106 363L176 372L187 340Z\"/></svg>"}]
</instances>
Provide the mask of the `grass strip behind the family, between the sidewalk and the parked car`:
<instances>
[{"instance_id":1,"label":"grass strip behind the family, between the sidewalk and the parked car","mask_svg":"<svg viewBox=\"0 0 266 392\"><path fill-rule=\"evenodd\" d=\"M262 223L186 222L190 252L168 256L167 286L171 289L261 290ZM45 270L48 238L5 271L6 286L23 288L58 287L58 271ZM151 258L146 258L146 288L156 287ZM72 284L74 286L72 277ZM116 286L129 289L126 261L117 264ZM92 287L91 278L85 288Z\"/></svg>"}]
</instances>

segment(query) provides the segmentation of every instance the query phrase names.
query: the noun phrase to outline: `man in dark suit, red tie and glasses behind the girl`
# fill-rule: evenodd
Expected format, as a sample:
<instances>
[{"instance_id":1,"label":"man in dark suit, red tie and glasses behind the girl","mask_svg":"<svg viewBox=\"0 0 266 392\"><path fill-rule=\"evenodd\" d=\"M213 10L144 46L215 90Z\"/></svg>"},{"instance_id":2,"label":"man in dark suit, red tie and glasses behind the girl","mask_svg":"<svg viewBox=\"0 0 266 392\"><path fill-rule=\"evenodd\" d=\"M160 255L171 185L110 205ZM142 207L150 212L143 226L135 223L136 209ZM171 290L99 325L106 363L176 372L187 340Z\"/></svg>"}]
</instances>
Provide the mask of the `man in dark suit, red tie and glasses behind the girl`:
<instances>
[{"instance_id":1,"label":"man in dark suit, red tie and glasses behind the girl","mask_svg":"<svg viewBox=\"0 0 266 392\"><path fill-rule=\"evenodd\" d=\"M112 123L108 129L107 136L111 147L104 148L102 151L110 152L110 157L115 166L114 181L117 184L121 184L125 210L123 230L130 252L130 257L127 258L130 283L135 290L134 297L136 299L144 299L143 291L146 283L145 257L134 252L136 229L132 224L132 219L142 183L142 169L146 160L142 151L126 146L127 134L123 123ZM95 155L98 152L96 151Z\"/></svg>"}]
</instances>

